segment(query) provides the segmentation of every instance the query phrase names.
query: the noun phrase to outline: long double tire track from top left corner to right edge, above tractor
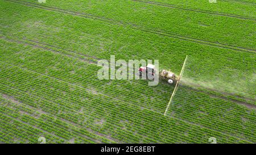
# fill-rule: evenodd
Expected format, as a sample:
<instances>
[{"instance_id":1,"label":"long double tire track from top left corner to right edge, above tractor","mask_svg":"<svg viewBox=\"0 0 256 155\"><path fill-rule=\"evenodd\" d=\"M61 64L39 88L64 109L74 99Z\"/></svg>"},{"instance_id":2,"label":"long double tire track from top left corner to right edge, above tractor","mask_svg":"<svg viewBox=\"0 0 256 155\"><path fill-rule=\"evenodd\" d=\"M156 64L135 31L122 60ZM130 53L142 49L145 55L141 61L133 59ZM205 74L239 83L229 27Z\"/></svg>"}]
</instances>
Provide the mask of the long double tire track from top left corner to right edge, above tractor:
<instances>
[{"instance_id":1,"label":"long double tire track from top left corner to right edge, above tractor","mask_svg":"<svg viewBox=\"0 0 256 155\"><path fill-rule=\"evenodd\" d=\"M110 23L110 24L119 24L119 25L122 25L123 27L126 27L128 25L128 26L131 26L130 28L132 28L134 30L139 30L139 31L144 31L144 32L149 32L149 33L155 33L156 35L172 37L172 38L175 38L175 39L190 41L190 42L193 42L193 43L211 45L211 46L218 47L218 48L233 49L234 51L249 52L249 53L255 53L256 52L255 49L237 47L237 46L228 45L228 44L214 43L213 41L201 40L201 39L196 39L196 38L192 38L192 37L182 36L182 35L179 35L177 33L168 32L168 31L164 31L164 30L162 30L162 31L154 30L154 29L148 28L148 27L136 26L134 24L125 23L125 22L122 22L122 21L117 21L117 20L108 19L108 18L102 18L102 17L99 17L99 16L84 14L84 13L80 13L80 12L67 11L67 10L62 10L62 9L57 9L57 8L53 9L52 7L40 6L40 5L37 5L35 3L32 3L32 5L31 5L30 2L20 2L20 1L15 1L15 0L5 0L5 1L20 3L22 5L36 7L36 8L43 9L43 10L48 10L48 11L62 12L64 14L80 16L82 18L98 19L98 20L101 20L103 22L107 22L107 23Z\"/></svg>"}]
</instances>

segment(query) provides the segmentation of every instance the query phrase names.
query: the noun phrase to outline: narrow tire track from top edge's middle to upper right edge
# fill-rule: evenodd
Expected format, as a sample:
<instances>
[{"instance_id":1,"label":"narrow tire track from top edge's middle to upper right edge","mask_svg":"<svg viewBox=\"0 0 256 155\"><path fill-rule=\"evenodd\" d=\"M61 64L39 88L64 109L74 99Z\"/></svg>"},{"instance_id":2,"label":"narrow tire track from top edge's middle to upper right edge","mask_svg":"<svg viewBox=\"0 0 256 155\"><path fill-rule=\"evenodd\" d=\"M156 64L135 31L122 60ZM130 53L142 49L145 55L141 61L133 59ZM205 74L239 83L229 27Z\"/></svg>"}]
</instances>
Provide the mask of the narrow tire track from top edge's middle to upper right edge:
<instances>
[{"instance_id":1,"label":"narrow tire track from top edge's middle to upper right edge","mask_svg":"<svg viewBox=\"0 0 256 155\"><path fill-rule=\"evenodd\" d=\"M249 18L249 17L242 16L242 15L225 14L225 13L222 13L222 12L213 12L213 11L204 11L204 10L195 10L195 9L185 9L185 8L182 8L182 7L178 7L178 6L175 6L175 5L170 5L168 3L163 3L163 2L144 1L144 0L130 0L130 1L139 2L139 3L146 3L146 4L150 4L150 5L158 5L158 6L163 6L163 7L169 7L171 9L177 9L177 10L200 12L200 13L203 13L203 14L227 16L227 17L231 17L231 18L239 18L239 19L245 19L245 20L249 19L249 20L256 21L256 19L254 19L254 18Z\"/></svg>"}]
</instances>

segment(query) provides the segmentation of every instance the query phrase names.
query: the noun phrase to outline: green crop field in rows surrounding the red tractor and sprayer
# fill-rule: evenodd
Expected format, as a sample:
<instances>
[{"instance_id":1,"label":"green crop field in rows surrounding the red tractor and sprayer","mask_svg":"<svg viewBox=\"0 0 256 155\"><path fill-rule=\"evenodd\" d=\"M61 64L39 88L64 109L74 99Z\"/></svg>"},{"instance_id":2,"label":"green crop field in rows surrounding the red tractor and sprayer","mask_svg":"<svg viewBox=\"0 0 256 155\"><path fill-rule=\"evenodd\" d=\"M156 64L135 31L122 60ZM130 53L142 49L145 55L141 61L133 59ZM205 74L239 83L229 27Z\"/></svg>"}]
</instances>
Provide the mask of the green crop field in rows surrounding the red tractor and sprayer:
<instances>
[{"instance_id":1,"label":"green crop field in rows surrounding the red tractor and sprayer","mask_svg":"<svg viewBox=\"0 0 256 155\"><path fill-rule=\"evenodd\" d=\"M256 143L255 6L0 0L0 143ZM110 55L188 60L170 100L161 78L98 79Z\"/></svg>"}]
</instances>

